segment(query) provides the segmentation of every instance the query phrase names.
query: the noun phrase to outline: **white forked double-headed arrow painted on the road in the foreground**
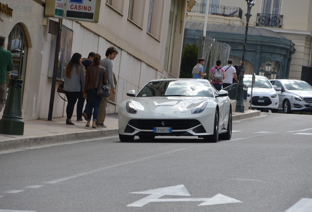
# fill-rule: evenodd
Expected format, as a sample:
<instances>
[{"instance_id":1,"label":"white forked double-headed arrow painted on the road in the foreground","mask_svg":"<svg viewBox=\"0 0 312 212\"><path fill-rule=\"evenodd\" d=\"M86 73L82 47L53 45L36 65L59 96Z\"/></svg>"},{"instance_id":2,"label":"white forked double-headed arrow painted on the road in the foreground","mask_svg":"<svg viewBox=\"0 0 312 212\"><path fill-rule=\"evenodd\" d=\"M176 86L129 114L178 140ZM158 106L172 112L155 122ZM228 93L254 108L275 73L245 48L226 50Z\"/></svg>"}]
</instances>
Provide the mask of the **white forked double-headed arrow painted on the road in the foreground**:
<instances>
[{"instance_id":1,"label":"white forked double-headed arrow painted on the road in the foreground","mask_svg":"<svg viewBox=\"0 0 312 212\"><path fill-rule=\"evenodd\" d=\"M142 207L151 202L194 202L194 201L204 201L198 206L207 206L207 205L218 205L218 204L227 204L227 203L241 203L241 201L233 199L231 197L217 194L211 198L166 198L159 199L164 195L175 195L175 196L190 196L184 185L169 186L163 188L150 189L145 191L131 192L139 194L151 194L143 199L140 199L134 203L131 203L127 206L129 207Z\"/></svg>"}]
</instances>

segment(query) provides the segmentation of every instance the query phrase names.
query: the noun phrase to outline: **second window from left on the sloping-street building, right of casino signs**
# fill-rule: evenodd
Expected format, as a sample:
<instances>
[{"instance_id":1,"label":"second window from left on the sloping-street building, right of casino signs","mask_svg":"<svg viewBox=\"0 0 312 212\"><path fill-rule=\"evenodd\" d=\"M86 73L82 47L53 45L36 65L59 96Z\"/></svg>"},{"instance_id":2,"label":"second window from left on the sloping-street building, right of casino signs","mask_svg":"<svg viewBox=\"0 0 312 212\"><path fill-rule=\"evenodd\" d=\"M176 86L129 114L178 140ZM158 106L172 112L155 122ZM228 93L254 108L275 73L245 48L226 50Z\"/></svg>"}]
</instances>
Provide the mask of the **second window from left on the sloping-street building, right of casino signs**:
<instances>
[{"instance_id":1,"label":"second window from left on the sloping-street building, right of casino signs","mask_svg":"<svg viewBox=\"0 0 312 212\"><path fill-rule=\"evenodd\" d=\"M141 28L143 27L144 7L145 1L130 0L128 19L130 19Z\"/></svg>"}]
</instances>

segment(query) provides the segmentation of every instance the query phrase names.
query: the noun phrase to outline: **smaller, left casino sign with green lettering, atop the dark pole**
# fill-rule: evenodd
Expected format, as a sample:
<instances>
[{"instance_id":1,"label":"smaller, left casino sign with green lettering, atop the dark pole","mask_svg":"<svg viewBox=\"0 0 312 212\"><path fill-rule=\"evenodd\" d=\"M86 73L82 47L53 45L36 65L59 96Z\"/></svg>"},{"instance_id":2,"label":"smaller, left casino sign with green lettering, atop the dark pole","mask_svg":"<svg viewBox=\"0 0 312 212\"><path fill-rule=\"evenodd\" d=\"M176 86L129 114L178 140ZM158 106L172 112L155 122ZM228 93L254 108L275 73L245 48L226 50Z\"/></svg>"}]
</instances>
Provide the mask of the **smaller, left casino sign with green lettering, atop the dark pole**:
<instances>
[{"instance_id":1,"label":"smaller, left casino sign with green lettering, atop the dark pole","mask_svg":"<svg viewBox=\"0 0 312 212\"><path fill-rule=\"evenodd\" d=\"M59 19L64 18L65 0L46 0L45 15Z\"/></svg>"}]
</instances>

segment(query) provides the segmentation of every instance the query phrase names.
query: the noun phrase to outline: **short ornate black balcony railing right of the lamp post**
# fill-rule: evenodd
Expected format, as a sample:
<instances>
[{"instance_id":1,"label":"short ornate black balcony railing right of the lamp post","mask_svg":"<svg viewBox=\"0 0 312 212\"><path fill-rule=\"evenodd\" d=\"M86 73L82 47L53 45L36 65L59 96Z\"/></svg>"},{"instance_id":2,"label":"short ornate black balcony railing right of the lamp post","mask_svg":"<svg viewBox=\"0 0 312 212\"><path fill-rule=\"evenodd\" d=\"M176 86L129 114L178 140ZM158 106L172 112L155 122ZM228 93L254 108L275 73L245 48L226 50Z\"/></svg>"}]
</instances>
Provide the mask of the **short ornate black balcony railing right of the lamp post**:
<instances>
[{"instance_id":1,"label":"short ornate black balcony railing right of the lamp post","mask_svg":"<svg viewBox=\"0 0 312 212\"><path fill-rule=\"evenodd\" d=\"M282 28L282 22L283 22L283 15L258 13L256 26Z\"/></svg>"}]
</instances>

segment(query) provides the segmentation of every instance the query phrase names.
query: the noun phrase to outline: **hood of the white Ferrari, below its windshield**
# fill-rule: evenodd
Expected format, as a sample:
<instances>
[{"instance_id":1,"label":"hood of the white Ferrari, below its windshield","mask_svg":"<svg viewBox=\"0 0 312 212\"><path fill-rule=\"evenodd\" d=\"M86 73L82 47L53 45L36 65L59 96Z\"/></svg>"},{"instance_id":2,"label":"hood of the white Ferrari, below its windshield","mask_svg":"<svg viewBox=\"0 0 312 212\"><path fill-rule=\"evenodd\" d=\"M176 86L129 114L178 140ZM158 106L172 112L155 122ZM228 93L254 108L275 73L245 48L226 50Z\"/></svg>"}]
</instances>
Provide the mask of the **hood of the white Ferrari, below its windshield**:
<instances>
[{"instance_id":1,"label":"hood of the white Ferrari, below its windshield","mask_svg":"<svg viewBox=\"0 0 312 212\"><path fill-rule=\"evenodd\" d=\"M208 97L138 97L130 99L130 102L141 112L175 111L177 113L188 111L207 101L206 108L215 108L214 98Z\"/></svg>"}]
</instances>

